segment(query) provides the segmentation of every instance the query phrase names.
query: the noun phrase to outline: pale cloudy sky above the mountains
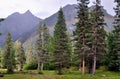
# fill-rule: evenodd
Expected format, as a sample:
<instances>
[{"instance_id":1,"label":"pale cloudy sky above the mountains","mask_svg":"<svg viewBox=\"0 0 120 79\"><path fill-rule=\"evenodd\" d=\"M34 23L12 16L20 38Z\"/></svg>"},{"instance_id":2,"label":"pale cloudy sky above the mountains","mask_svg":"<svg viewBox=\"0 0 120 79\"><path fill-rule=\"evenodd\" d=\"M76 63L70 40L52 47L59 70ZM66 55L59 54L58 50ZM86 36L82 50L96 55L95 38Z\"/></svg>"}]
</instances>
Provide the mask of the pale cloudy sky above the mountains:
<instances>
[{"instance_id":1,"label":"pale cloudy sky above the mountains","mask_svg":"<svg viewBox=\"0 0 120 79\"><path fill-rule=\"evenodd\" d=\"M90 0L92 2L95 0ZM14 12L25 13L30 10L39 18L47 18L62 6L76 4L77 0L0 0L0 18L6 18ZM101 0L102 5L111 15L114 15L114 0Z\"/></svg>"}]
</instances>

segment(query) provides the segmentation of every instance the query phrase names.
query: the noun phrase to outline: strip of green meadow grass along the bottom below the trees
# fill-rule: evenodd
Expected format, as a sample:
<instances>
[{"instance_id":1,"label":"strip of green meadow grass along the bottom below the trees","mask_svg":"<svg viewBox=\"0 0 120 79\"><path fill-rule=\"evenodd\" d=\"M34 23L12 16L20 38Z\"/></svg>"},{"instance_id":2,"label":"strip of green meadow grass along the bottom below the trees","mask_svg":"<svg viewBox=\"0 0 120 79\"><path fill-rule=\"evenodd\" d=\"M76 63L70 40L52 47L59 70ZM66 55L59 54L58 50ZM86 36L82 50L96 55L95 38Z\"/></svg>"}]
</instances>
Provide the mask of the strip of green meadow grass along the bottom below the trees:
<instances>
[{"instance_id":1,"label":"strip of green meadow grass along the bottom below the trees","mask_svg":"<svg viewBox=\"0 0 120 79\"><path fill-rule=\"evenodd\" d=\"M64 75L57 75L54 71L44 71L43 75L37 74L36 71L26 72L28 73L5 74L4 77L0 79L120 79L119 72L110 71L97 71L94 77L89 74L82 76L80 71L73 71Z\"/></svg>"}]
</instances>

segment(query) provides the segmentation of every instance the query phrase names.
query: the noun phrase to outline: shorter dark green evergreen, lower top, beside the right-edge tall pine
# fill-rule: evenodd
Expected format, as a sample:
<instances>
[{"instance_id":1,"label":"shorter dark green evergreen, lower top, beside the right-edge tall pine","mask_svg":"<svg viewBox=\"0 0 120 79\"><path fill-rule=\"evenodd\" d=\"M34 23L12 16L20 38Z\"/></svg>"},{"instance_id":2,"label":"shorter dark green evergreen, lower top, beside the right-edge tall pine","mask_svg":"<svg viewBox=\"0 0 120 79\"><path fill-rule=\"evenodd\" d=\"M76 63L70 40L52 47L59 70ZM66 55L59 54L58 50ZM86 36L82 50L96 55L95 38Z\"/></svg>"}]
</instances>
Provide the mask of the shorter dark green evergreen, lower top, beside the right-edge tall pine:
<instances>
[{"instance_id":1,"label":"shorter dark green evergreen, lower top, beside the right-edge tall pine","mask_svg":"<svg viewBox=\"0 0 120 79\"><path fill-rule=\"evenodd\" d=\"M108 70L110 71L119 71L119 55L116 53L115 43L114 43L114 34L109 33L107 37L107 48L108 51L105 55L105 65L107 66Z\"/></svg>"}]
</instances>

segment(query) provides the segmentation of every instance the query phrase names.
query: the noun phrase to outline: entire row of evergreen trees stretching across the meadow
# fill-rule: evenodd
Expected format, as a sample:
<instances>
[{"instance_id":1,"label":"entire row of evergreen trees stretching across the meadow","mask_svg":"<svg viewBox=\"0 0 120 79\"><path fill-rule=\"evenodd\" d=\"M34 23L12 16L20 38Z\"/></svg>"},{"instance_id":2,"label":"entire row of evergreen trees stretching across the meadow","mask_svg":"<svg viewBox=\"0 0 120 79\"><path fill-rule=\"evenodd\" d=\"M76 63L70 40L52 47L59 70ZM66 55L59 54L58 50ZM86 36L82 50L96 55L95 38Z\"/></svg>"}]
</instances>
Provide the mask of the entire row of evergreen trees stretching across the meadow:
<instances>
[{"instance_id":1,"label":"entire row of evergreen trees stretching across the meadow","mask_svg":"<svg viewBox=\"0 0 120 79\"><path fill-rule=\"evenodd\" d=\"M34 45L23 48L20 41L12 42L11 34L1 50L1 68L13 73L16 68L34 67L39 74L44 69L56 70L63 74L65 69L75 66L85 74L95 75L96 68L104 65L108 70L120 71L120 1L115 0L114 29L107 33L101 0L96 0L94 8L89 11L89 0L77 0L78 9L76 29L70 34L66 27L65 16L60 8L54 34L50 36L45 23L40 23L38 38Z\"/></svg>"}]
</instances>

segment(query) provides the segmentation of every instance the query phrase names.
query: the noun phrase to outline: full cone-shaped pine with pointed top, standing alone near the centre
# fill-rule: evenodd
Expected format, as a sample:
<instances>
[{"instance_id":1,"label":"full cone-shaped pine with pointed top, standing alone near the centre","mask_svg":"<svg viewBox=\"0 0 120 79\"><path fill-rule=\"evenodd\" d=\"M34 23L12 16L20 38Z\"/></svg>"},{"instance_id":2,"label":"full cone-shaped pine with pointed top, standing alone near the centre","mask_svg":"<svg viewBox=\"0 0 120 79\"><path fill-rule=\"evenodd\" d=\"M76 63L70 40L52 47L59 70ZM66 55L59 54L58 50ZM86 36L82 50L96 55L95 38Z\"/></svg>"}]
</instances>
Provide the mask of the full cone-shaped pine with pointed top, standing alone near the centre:
<instances>
[{"instance_id":1,"label":"full cone-shaped pine with pointed top, standing alone near the centre","mask_svg":"<svg viewBox=\"0 0 120 79\"><path fill-rule=\"evenodd\" d=\"M68 49L67 28L62 8L60 8L58 12L58 20L54 29L54 62L58 74L63 74L62 69L68 66L70 53Z\"/></svg>"}]
</instances>

